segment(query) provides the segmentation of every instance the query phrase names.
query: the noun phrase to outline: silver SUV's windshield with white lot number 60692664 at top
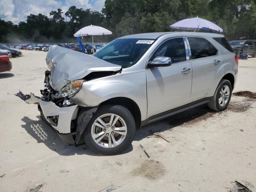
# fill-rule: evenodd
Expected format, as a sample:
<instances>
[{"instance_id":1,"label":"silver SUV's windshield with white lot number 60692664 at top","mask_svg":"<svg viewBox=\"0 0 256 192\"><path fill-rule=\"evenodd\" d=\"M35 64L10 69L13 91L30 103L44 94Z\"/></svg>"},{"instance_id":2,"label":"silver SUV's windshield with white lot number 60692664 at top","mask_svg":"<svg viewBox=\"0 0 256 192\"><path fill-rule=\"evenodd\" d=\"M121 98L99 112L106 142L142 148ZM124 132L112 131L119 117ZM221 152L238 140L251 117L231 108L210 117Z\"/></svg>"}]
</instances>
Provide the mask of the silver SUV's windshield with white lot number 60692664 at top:
<instances>
[{"instance_id":1,"label":"silver SUV's windshield with white lot number 60692664 at top","mask_svg":"<svg viewBox=\"0 0 256 192\"><path fill-rule=\"evenodd\" d=\"M138 62L154 39L116 39L94 54L104 61L128 68Z\"/></svg>"}]
</instances>

